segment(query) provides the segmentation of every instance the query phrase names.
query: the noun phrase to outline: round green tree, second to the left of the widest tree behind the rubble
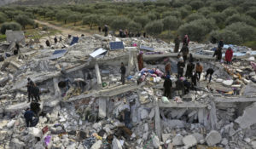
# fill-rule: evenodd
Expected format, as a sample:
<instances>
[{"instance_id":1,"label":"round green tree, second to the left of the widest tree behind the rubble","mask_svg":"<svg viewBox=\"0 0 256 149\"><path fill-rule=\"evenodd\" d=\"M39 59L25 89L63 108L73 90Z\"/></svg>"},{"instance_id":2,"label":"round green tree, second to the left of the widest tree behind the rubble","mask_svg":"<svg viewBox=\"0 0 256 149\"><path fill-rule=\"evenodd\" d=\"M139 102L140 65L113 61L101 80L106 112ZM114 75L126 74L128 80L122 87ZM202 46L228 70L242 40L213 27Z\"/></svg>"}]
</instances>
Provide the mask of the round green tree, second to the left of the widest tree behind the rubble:
<instances>
[{"instance_id":1,"label":"round green tree, second to the left of the widest tree behind the rubble","mask_svg":"<svg viewBox=\"0 0 256 149\"><path fill-rule=\"evenodd\" d=\"M164 25L161 21L154 20L145 26L145 30L149 35L158 35L163 31L163 27Z\"/></svg>"}]
</instances>

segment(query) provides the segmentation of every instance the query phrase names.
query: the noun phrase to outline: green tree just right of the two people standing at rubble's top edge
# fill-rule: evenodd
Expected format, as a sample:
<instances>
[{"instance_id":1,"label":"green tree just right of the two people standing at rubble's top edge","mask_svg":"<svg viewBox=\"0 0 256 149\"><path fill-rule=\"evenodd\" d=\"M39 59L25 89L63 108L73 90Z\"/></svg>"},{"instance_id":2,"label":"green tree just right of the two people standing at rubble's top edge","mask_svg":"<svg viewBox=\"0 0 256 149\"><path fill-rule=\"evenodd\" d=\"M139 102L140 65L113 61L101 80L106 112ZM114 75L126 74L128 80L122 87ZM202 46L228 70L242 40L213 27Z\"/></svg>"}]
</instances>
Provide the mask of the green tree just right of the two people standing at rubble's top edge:
<instances>
[{"instance_id":1,"label":"green tree just right of the two people standing at rubble's top edge","mask_svg":"<svg viewBox=\"0 0 256 149\"><path fill-rule=\"evenodd\" d=\"M131 20L129 20L126 17L117 17L116 19L113 20L110 26L113 30L116 30L116 31L119 29L126 29L130 21Z\"/></svg>"}]
</instances>

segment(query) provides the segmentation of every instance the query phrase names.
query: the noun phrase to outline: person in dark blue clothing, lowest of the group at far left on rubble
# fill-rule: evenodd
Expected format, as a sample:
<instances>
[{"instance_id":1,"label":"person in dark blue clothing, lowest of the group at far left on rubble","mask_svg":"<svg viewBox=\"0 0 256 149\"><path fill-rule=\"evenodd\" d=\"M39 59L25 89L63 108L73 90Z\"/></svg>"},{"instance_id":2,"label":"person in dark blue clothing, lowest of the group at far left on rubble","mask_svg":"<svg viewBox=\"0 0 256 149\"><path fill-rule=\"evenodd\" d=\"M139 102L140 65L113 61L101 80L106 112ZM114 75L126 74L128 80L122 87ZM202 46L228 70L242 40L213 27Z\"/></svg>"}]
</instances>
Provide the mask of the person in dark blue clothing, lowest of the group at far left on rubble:
<instances>
[{"instance_id":1,"label":"person in dark blue clothing, lowest of the group at far left on rubble","mask_svg":"<svg viewBox=\"0 0 256 149\"><path fill-rule=\"evenodd\" d=\"M36 117L35 113L31 111L30 108L26 109L26 112L24 113L24 117L26 120L26 127L35 127L38 124L39 119L38 117Z\"/></svg>"}]
</instances>

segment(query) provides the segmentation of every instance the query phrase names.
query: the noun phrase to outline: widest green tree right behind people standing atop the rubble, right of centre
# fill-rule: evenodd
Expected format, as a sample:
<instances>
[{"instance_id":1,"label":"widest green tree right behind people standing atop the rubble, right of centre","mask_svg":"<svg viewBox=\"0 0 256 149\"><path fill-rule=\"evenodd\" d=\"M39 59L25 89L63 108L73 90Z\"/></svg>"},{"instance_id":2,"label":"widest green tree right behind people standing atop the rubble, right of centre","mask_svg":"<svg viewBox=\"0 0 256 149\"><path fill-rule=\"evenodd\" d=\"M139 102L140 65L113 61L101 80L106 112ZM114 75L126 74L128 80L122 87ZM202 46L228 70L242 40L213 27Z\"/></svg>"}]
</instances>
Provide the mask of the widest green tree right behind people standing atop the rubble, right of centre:
<instances>
[{"instance_id":1,"label":"widest green tree right behind people standing atop the rubble, right of centre","mask_svg":"<svg viewBox=\"0 0 256 149\"><path fill-rule=\"evenodd\" d=\"M214 20L201 19L183 24L178 28L178 33L182 37L187 34L191 40L202 41L214 29L216 29Z\"/></svg>"}]
</instances>

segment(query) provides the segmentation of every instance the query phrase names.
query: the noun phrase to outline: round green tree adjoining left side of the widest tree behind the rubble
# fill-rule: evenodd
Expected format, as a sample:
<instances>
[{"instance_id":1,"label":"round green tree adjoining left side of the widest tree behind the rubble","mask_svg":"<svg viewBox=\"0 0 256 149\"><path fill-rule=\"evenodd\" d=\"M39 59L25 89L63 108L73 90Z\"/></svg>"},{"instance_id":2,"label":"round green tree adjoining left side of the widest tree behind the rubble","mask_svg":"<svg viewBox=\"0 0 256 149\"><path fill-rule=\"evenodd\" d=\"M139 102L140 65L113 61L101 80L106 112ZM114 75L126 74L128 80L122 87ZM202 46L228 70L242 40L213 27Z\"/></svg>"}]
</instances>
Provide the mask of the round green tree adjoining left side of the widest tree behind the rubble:
<instances>
[{"instance_id":1,"label":"round green tree adjoining left side of the widest tree behind the rubble","mask_svg":"<svg viewBox=\"0 0 256 149\"><path fill-rule=\"evenodd\" d=\"M176 30L181 25L181 20L175 16L168 16L163 19L164 30Z\"/></svg>"}]
</instances>

